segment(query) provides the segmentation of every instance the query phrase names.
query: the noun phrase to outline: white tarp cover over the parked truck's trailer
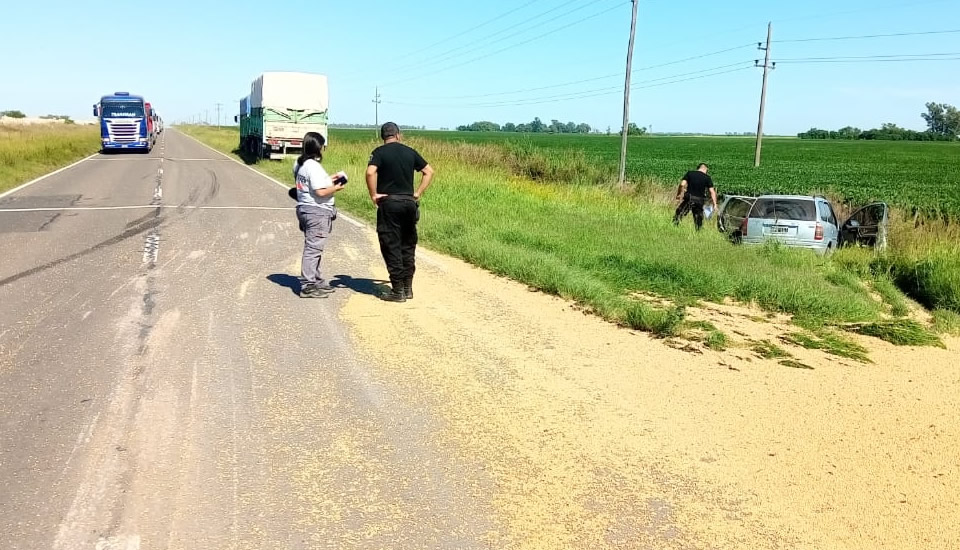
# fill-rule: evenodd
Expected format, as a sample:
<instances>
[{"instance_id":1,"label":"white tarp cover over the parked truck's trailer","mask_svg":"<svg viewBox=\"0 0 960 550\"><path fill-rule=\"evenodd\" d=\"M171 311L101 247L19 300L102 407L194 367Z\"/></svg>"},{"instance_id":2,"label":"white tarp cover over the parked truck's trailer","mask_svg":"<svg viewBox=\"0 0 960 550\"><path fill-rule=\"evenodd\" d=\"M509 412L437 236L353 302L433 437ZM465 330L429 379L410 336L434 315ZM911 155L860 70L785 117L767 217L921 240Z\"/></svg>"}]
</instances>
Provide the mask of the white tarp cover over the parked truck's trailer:
<instances>
[{"instance_id":1,"label":"white tarp cover over the parked truck's trailer","mask_svg":"<svg viewBox=\"0 0 960 550\"><path fill-rule=\"evenodd\" d=\"M250 87L250 107L326 111L327 77L309 73L263 73Z\"/></svg>"}]
</instances>

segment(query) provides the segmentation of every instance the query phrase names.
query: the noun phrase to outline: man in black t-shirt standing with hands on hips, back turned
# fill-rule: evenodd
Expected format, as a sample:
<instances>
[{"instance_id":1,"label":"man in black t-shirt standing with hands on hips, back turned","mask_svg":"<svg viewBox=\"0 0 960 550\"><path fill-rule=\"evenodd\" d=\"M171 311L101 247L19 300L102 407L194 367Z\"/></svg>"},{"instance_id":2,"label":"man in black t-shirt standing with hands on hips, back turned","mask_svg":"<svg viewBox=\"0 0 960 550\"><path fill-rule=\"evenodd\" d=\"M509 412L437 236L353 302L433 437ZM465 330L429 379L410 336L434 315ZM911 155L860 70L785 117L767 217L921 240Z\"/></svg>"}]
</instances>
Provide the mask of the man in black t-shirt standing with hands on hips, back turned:
<instances>
[{"instance_id":1,"label":"man in black t-shirt standing with hands on hips, back turned","mask_svg":"<svg viewBox=\"0 0 960 550\"><path fill-rule=\"evenodd\" d=\"M388 302L405 302L413 299L420 197L433 181L433 167L420 153L400 143L403 136L393 122L380 128L380 138L383 145L373 151L367 166L367 189L377 206L380 253L392 286L381 297ZM414 171L423 174L416 190Z\"/></svg>"}]
</instances>

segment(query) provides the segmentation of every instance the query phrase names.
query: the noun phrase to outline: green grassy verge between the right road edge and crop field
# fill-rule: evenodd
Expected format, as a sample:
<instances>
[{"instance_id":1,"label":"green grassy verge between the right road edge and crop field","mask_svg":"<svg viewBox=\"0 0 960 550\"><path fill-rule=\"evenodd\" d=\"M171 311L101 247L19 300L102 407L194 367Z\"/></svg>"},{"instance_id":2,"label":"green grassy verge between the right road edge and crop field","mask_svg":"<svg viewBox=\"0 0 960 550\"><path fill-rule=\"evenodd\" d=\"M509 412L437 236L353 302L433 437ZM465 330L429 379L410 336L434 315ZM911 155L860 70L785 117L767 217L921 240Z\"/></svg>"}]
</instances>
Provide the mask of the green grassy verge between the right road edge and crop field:
<instances>
[{"instance_id":1,"label":"green grassy verge between the right road edge and crop field","mask_svg":"<svg viewBox=\"0 0 960 550\"><path fill-rule=\"evenodd\" d=\"M231 129L182 130L224 152L232 152L238 141ZM903 307L898 307L903 296L892 285L881 303L862 284L872 280L874 262L863 251L839 254L843 261L835 261L779 247L737 247L715 231L697 234L689 223L673 227L672 206L661 188L623 192L530 178L564 181L564 174L586 170L589 158L582 153L411 141L438 169L435 187L423 201L424 243L573 299L611 321L673 335L690 327L684 306L726 297L792 314L820 335L834 334L824 328L829 326L886 327L885 319L902 313L894 311ZM353 182L338 204L372 220L362 172L377 145L374 136L335 131L331 142L325 166L346 170ZM288 181L291 163L261 162L258 169ZM658 306L650 295L675 306ZM923 332L910 328L911 334ZM710 338L722 347L720 336Z\"/></svg>"}]
</instances>

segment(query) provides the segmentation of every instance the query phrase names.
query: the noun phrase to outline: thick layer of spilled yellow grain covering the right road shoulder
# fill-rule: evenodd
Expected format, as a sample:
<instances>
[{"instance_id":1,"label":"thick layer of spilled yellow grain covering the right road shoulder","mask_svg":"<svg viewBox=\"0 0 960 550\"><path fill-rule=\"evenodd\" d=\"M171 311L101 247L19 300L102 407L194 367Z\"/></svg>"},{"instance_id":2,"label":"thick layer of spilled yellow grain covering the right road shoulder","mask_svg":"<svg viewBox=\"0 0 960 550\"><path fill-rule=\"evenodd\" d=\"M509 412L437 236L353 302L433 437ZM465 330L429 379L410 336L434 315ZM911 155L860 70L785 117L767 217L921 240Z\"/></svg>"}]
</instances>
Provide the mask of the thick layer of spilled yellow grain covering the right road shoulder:
<instances>
[{"instance_id":1,"label":"thick layer of spilled yellow grain covering the right road shoulder","mask_svg":"<svg viewBox=\"0 0 960 550\"><path fill-rule=\"evenodd\" d=\"M960 546L957 340L869 340L873 364L791 349L814 369L788 368L675 349L433 257L414 301L357 295L342 316L444 420L443 448L495 480L504 546Z\"/></svg>"}]
</instances>

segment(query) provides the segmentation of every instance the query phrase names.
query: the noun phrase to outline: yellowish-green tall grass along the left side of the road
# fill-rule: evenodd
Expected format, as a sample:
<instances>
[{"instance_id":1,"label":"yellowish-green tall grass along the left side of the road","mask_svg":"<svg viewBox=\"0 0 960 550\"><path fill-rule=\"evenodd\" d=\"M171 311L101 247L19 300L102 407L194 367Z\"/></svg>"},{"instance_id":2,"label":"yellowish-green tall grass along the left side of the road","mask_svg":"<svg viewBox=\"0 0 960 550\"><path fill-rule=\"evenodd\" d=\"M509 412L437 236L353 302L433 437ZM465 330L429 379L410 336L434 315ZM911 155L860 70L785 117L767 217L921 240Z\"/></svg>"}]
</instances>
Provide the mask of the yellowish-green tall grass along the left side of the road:
<instances>
[{"instance_id":1,"label":"yellowish-green tall grass along the left side of the road","mask_svg":"<svg viewBox=\"0 0 960 550\"><path fill-rule=\"evenodd\" d=\"M96 153L99 148L96 126L0 126L0 193Z\"/></svg>"}]
</instances>

